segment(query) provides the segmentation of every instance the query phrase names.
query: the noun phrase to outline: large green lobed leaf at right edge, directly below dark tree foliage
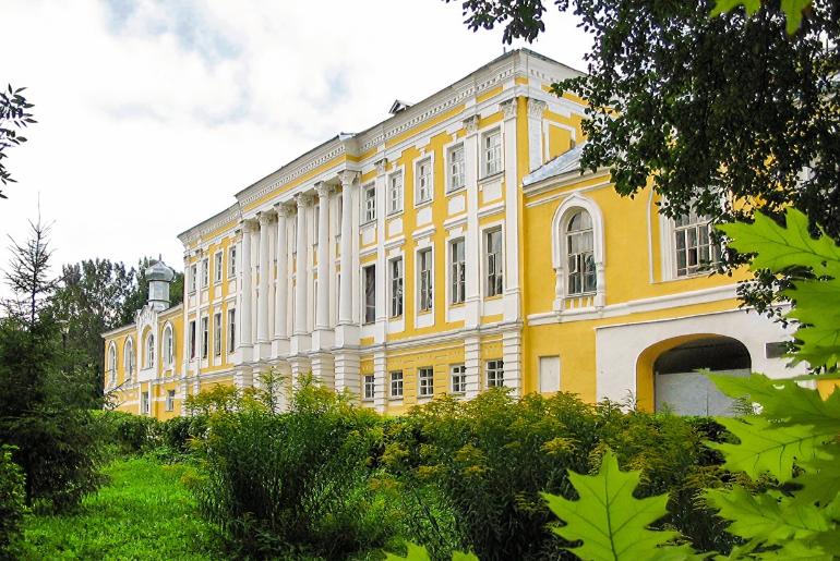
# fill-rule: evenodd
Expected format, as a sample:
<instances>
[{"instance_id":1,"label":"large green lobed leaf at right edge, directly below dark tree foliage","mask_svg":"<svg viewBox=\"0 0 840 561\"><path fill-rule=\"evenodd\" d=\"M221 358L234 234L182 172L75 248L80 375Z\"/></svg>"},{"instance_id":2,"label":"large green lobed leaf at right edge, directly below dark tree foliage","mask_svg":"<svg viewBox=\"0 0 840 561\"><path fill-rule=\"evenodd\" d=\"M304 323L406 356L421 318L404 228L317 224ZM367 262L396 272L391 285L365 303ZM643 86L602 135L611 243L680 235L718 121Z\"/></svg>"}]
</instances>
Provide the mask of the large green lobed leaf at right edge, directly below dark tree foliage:
<instances>
[{"instance_id":1,"label":"large green lobed leaf at right edge, directly below dark tree foliage","mask_svg":"<svg viewBox=\"0 0 840 561\"><path fill-rule=\"evenodd\" d=\"M816 275L840 271L840 247L825 233L814 239L808 219L795 208L785 212L787 228L756 212L755 222L733 222L718 227L730 237L729 245L740 253L757 254L749 265L753 270L781 272L789 267L811 267Z\"/></svg>"}]
</instances>

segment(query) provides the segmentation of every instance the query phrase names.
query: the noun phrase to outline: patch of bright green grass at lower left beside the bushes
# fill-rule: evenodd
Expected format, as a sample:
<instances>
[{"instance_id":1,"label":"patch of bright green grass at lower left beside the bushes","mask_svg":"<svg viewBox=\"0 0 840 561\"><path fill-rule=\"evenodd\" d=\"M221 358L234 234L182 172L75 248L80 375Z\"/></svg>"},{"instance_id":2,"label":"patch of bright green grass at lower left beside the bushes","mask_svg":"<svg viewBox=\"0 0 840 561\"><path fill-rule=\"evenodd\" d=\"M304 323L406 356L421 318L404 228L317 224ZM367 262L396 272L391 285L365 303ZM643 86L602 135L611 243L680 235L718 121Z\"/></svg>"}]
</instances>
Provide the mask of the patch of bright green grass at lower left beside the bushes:
<instances>
[{"instance_id":1,"label":"patch of bright green grass at lower left beside the bushes","mask_svg":"<svg viewBox=\"0 0 840 561\"><path fill-rule=\"evenodd\" d=\"M188 467L137 458L105 468L110 477L73 514L29 515L17 554L41 559L220 559L213 533L181 484Z\"/></svg>"}]
</instances>

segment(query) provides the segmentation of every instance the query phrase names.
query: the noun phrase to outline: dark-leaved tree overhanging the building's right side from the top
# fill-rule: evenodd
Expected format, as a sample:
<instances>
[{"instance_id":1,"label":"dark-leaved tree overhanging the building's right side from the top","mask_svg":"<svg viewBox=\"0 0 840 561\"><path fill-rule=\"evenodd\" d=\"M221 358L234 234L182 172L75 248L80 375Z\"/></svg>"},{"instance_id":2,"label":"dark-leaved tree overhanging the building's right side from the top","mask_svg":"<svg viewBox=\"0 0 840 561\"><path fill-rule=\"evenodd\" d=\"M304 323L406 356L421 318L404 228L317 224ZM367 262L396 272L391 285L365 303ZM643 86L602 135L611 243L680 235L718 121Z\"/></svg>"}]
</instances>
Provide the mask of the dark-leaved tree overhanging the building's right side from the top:
<instances>
[{"instance_id":1,"label":"dark-leaved tree overhanging the building's right side from the top","mask_svg":"<svg viewBox=\"0 0 840 561\"><path fill-rule=\"evenodd\" d=\"M452 0L445 0L452 1ZM593 37L588 75L555 84L587 99L584 167L612 170L633 196L648 182L667 216L689 208L716 222L755 208L781 219L793 206L840 240L840 5L745 3L712 16L712 0L555 0ZM544 31L543 0L466 0L473 31L504 25L503 39L533 40ZM789 35L785 10L802 26ZM795 27L795 26L794 26ZM744 263L730 252L725 268ZM794 273L795 272L795 273ZM757 271L742 284L748 304L767 310L800 272Z\"/></svg>"}]
</instances>

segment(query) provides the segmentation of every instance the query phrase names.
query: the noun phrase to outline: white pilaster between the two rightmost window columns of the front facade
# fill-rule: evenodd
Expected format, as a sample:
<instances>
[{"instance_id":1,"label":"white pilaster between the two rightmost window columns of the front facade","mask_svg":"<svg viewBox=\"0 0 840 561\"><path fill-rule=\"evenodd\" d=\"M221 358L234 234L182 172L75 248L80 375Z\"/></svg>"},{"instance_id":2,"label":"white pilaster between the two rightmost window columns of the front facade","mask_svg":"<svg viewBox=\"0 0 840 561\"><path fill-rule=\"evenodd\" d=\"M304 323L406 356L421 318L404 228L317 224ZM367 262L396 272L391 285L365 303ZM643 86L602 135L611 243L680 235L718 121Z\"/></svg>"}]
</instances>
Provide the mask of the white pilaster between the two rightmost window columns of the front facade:
<instances>
[{"instance_id":1,"label":"white pilaster between the two rightmost window columns of the front facade","mask_svg":"<svg viewBox=\"0 0 840 561\"><path fill-rule=\"evenodd\" d=\"M479 155L478 115L464 121L467 135L464 138L465 181L467 183L467 235L464 240L466 266L464 296L467 329L476 329L481 320L481 295L479 293L479 225L478 225L478 178L481 158Z\"/></svg>"}]
</instances>

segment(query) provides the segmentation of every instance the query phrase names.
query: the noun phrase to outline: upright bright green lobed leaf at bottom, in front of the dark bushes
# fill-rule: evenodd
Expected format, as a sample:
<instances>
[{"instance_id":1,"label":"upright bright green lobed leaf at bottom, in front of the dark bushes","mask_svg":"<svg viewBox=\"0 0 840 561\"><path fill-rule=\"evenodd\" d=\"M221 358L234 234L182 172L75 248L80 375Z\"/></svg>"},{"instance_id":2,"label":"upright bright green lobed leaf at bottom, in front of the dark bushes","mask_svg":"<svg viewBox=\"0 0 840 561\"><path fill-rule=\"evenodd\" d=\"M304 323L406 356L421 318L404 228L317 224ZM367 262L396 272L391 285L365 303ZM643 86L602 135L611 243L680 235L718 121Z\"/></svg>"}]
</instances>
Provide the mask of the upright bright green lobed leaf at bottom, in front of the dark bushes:
<instances>
[{"instance_id":1,"label":"upright bright green lobed leaf at bottom, in front of the dark bushes","mask_svg":"<svg viewBox=\"0 0 840 561\"><path fill-rule=\"evenodd\" d=\"M583 540L581 546L571 548L581 559L660 559L668 551L660 547L677 534L648 529L667 514L668 496L634 498L639 473L620 471L617 459L609 451L601 461L598 475L569 472L579 500L542 495L549 509L566 523L552 530L569 541Z\"/></svg>"}]
</instances>

